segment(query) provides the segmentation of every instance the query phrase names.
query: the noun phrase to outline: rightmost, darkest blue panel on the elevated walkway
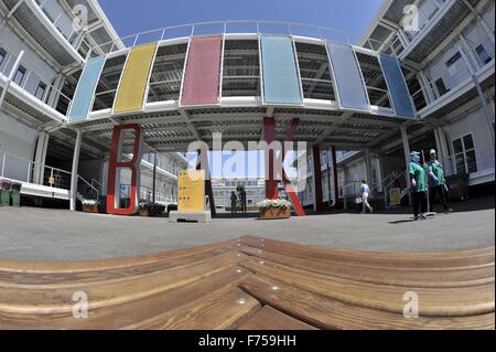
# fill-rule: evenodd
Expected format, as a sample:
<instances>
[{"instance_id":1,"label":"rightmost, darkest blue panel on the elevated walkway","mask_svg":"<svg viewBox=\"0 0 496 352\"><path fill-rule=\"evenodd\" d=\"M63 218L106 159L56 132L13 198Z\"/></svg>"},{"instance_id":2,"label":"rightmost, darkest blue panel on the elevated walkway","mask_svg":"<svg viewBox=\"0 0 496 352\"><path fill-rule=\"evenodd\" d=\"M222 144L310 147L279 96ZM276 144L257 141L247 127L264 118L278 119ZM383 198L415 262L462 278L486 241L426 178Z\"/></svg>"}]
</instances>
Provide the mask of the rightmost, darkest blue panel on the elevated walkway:
<instances>
[{"instance_id":1,"label":"rightmost, darkest blue panel on the elevated walkway","mask_svg":"<svg viewBox=\"0 0 496 352\"><path fill-rule=\"evenodd\" d=\"M388 83L396 115L417 118L416 111L411 104L410 93L408 92L408 86L405 82L405 76L401 72L398 60L384 54L380 54L379 60L384 76Z\"/></svg>"}]
</instances>

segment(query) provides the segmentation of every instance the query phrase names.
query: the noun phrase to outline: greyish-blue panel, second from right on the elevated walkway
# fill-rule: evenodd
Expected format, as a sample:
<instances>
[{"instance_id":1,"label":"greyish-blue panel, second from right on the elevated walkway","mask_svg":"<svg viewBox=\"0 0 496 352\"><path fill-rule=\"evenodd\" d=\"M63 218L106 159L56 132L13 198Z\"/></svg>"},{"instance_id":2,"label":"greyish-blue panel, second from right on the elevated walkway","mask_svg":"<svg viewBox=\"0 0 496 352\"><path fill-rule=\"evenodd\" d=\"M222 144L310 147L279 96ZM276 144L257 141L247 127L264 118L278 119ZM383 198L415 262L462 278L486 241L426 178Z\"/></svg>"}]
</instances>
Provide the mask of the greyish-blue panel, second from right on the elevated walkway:
<instances>
[{"instance_id":1,"label":"greyish-blue panel, second from right on the elevated walkway","mask_svg":"<svg viewBox=\"0 0 496 352\"><path fill-rule=\"evenodd\" d=\"M341 107L369 110L367 89L352 46L327 42L327 51Z\"/></svg>"}]
</instances>

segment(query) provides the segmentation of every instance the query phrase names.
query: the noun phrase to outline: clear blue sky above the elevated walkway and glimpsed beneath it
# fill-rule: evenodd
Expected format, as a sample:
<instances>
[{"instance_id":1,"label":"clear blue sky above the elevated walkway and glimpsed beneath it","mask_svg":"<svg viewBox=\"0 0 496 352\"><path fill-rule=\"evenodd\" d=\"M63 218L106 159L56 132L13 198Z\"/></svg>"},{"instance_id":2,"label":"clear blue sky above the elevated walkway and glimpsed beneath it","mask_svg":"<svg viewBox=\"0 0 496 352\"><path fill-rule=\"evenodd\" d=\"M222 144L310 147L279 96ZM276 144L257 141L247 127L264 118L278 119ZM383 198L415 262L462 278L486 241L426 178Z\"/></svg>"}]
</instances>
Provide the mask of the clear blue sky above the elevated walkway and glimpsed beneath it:
<instances>
[{"instance_id":1,"label":"clear blue sky above the elevated walkway and glimpsed beneath it","mask_svg":"<svg viewBox=\"0 0 496 352\"><path fill-rule=\"evenodd\" d=\"M119 36L164 26L224 21L261 20L306 23L349 33L357 43L376 15L384 0L98 0ZM230 28L229 31L233 32ZM248 28L242 28L246 31ZM198 29L201 31L202 29ZM208 29L204 29L208 31ZM212 30L212 29L211 29ZM278 28L279 30L279 28ZM300 29L306 31L306 29ZM282 33L282 32L281 32ZM180 32L177 32L180 34ZM184 35L181 33L182 36ZM205 34L205 33L198 33ZM304 35L305 32L295 33ZM310 35L314 35L309 33ZM309 35L306 34L306 35ZM173 35L173 32L172 34ZM331 34L328 34L331 35ZM222 159L231 159L230 152ZM244 154L238 168L213 168L213 177L263 177L263 157ZM212 156L211 156L212 158ZM255 161L254 161L255 160ZM220 170L223 169L223 170Z\"/></svg>"}]
</instances>

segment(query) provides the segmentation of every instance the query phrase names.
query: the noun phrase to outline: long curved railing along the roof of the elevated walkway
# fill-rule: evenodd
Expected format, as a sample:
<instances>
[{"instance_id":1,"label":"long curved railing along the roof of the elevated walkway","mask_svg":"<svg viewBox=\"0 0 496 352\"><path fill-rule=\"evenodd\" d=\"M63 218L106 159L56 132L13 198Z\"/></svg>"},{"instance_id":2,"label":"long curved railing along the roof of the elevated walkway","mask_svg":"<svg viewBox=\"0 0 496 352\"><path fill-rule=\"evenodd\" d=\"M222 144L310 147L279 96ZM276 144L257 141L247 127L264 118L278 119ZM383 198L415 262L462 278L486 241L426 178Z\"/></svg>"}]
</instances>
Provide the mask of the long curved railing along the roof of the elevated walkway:
<instances>
[{"instance_id":1,"label":"long curved railing along the roof of the elevated walkway","mask_svg":"<svg viewBox=\"0 0 496 352\"><path fill-rule=\"evenodd\" d=\"M91 46L88 52L88 57L98 47L110 47L109 52L117 51L123 44L125 47L132 47L139 44L161 42L169 39L186 38L193 35L208 35L208 34L285 34L298 36L310 36L320 40L331 40L352 45L358 45L362 35L351 31L343 31L338 29L312 25L298 22L284 21L256 21L256 20L230 20L230 21L212 21L212 22L196 22L180 25L165 26L150 31L140 32L137 34L112 40L103 44ZM370 47L377 45L369 44Z\"/></svg>"}]
</instances>

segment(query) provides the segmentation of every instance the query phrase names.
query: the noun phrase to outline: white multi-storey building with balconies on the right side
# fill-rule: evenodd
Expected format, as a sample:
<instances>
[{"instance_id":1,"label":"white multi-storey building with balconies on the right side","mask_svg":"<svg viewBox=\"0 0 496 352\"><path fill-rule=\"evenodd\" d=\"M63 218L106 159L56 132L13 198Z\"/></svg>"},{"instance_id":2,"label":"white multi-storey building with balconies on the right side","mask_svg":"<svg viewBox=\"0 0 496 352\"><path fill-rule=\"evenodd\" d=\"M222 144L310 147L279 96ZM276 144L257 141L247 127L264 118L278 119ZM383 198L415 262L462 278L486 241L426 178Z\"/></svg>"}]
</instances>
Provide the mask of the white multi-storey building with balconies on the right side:
<instances>
[{"instance_id":1,"label":"white multi-storey building with balconies on the right side","mask_svg":"<svg viewBox=\"0 0 496 352\"><path fill-rule=\"evenodd\" d=\"M418 31L405 30L409 4L419 10ZM494 1L386 0L360 45L400 60L420 121L384 135L369 149L338 151L338 196L355 198L364 178L376 195L398 183L405 189L406 149L428 157L434 148L448 175L467 173L472 189L494 185ZM301 196L311 205L312 173L306 177L309 191Z\"/></svg>"}]
</instances>

